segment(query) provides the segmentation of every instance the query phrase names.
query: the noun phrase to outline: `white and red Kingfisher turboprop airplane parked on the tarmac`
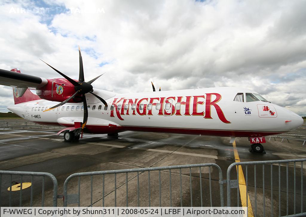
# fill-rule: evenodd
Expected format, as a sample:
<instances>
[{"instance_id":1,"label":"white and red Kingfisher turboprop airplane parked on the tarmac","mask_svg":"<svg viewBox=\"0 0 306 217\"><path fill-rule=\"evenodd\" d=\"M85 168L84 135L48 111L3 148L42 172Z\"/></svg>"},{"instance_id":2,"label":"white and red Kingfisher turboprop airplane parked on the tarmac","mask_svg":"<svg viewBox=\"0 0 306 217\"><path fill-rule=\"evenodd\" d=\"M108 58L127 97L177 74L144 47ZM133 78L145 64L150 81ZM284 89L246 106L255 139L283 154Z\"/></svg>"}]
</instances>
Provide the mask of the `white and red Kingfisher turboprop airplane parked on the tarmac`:
<instances>
[{"instance_id":1,"label":"white and red Kingfisher turboprop airplane parked on the tarmac","mask_svg":"<svg viewBox=\"0 0 306 217\"><path fill-rule=\"evenodd\" d=\"M126 130L248 137L251 151L263 152L265 136L298 128L303 119L257 92L241 87L118 94L85 82L79 48L79 80L46 79L0 69L0 84L12 86L15 105L8 109L22 118L67 128L66 142L83 133L118 135ZM28 88L36 89L33 94ZM57 104L57 102L60 102Z\"/></svg>"}]
</instances>

